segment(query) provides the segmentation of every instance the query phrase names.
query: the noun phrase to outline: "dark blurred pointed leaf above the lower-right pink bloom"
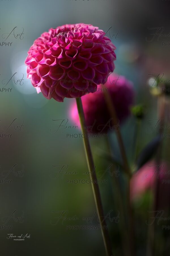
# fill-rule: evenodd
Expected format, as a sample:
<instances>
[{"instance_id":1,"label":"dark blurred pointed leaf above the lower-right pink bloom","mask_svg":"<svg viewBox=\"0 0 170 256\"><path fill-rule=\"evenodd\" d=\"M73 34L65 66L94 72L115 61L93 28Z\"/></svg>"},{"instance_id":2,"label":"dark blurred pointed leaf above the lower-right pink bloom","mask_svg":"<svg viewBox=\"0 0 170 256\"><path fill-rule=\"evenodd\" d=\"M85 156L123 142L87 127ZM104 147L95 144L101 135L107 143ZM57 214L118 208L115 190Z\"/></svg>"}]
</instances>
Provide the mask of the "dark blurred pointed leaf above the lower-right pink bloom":
<instances>
[{"instance_id":1,"label":"dark blurred pointed leaf above the lower-right pink bloom","mask_svg":"<svg viewBox=\"0 0 170 256\"><path fill-rule=\"evenodd\" d=\"M154 156L154 154L158 150L160 142L161 137L160 135L158 135L142 150L137 160L137 170L139 170L144 164L146 164L146 162L148 162L152 158L152 156Z\"/></svg>"}]
</instances>

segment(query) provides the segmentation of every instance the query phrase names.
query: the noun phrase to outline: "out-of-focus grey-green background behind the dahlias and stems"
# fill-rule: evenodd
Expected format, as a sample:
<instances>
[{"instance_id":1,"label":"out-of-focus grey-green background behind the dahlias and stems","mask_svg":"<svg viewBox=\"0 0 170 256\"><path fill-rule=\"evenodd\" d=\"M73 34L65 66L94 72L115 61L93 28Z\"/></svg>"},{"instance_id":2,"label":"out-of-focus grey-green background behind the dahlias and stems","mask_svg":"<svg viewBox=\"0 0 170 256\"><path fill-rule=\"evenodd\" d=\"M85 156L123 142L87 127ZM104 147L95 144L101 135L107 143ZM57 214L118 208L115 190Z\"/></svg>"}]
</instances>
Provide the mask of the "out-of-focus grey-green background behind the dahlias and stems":
<instances>
[{"instance_id":1,"label":"out-of-focus grey-green background behind the dahlias and stems","mask_svg":"<svg viewBox=\"0 0 170 256\"><path fill-rule=\"evenodd\" d=\"M67 138L67 133L75 133L75 129L62 130L60 127L57 131L56 126L60 121L53 121L68 118L67 125L73 125L69 117L69 106L75 99L65 98L63 103L59 103L36 93L26 78L24 65L33 41L49 28L63 24L83 22L98 26L105 32L111 28L111 40L117 48L115 72L133 82L135 104L144 104L146 109L139 134L140 151L158 133L156 129L152 132L155 123L148 121L158 118L157 98L150 94L148 86L148 79L154 75L149 74L164 73L164 77L169 76L170 46L163 46L162 43L170 42L170 37L153 38L156 30L148 28L163 26L162 34L168 34L168 9L168 1L150 0L0 1L1 255L105 255L101 230L66 229L67 225L88 224L85 219L95 214L94 199L90 184L66 182L67 179L88 179L84 175L88 168L82 139ZM19 36L15 38L14 34L10 34L7 38L7 34L14 28L14 34ZM23 35L20 35L22 32ZM12 44L5 46L2 42ZM10 88L11 92L3 88ZM76 132L80 133L79 130ZM131 164L134 157L134 133L135 120L131 117L122 127ZM110 136L119 157L115 135ZM101 157L103 152L107 152L107 144L104 139L91 139L90 142L97 175L100 176L110 164ZM165 144L169 146L169 139L165 140ZM169 160L167 150L164 159ZM59 173L62 166L62 170L67 168L67 174ZM105 179L108 180L107 184L100 185L103 207L106 214L111 210L113 218L120 211L114 199L118 195L111 177L105 174ZM145 221L149 197L147 195L134 205L139 256L144 255L146 250L148 227ZM64 212L62 217L67 213L65 219L59 218L61 212ZM115 222L107 218L114 252L123 255L119 225ZM96 215L92 225L98 225ZM30 238L13 241L7 239L8 234L30 234ZM162 247L157 255L169 255L166 254L169 247L165 249L162 234L159 239Z\"/></svg>"}]
</instances>

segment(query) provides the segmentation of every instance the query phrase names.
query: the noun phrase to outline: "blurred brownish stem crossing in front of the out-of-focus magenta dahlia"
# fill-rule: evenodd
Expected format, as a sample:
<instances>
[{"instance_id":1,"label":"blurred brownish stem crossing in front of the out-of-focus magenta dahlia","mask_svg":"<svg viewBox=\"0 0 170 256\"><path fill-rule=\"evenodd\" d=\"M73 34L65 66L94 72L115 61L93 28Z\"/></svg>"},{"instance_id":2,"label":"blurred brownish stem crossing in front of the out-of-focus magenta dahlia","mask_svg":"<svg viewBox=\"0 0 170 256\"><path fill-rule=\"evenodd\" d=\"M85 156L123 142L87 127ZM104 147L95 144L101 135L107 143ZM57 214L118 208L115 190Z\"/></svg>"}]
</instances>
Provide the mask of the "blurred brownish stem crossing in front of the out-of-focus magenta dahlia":
<instances>
[{"instance_id":1,"label":"blurred brownish stem crossing in front of the out-of-focus magenta dahlia","mask_svg":"<svg viewBox=\"0 0 170 256\"><path fill-rule=\"evenodd\" d=\"M104 87L105 88L105 87ZM107 90L104 90L104 96L105 96L105 102L107 104L108 110L110 112L110 115L112 117L112 124L114 127L118 126L118 118L116 115L116 110L114 108L114 104L112 103L112 99L110 94L107 92ZM122 160L123 160L123 165L124 165L124 170L127 174L127 213L128 213L128 220L129 220L129 246L130 246L130 251L131 251L131 256L135 255L134 252L134 224L133 224L133 211L131 208L131 201L130 201L130 179L131 179L131 170L128 165L128 159L126 157L126 151L124 148L124 143L122 139L122 135L119 129L119 126L117 129L115 129L119 147L120 147L120 152L122 155Z\"/></svg>"}]
</instances>

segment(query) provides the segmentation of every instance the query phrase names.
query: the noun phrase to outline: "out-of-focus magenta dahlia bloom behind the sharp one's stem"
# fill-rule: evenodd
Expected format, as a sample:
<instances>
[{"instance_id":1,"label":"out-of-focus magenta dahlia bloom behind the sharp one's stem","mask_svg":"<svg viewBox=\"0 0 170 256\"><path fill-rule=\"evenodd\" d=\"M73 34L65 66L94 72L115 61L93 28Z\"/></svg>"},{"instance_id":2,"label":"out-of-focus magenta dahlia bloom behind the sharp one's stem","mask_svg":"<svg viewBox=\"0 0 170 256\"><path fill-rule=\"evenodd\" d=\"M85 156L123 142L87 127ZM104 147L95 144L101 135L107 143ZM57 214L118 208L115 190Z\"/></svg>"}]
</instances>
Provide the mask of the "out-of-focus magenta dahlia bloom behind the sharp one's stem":
<instances>
[{"instance_id":1,"label":"out-of-focus magenta dahlia bloom behind the sharp one's stem","mask_svg":"<svg viewBox=\"0 0 170 256\"><path fill-rule=\"evenodd\" d=\"M111 74L105 83L105 88L111 95L118 121L121 124L130 114L129 109L133 104L134 99L133 85L125 77L117 74ZM109 129L116 129L116 127L112 127L112 117L110 116L105 102L103 90L105 89L99 85L95 93L86 94L82 97L82 105L88 132L104 133ZM72 121L80 127L78 111L75 103L73 103L70 108L69 116L71 116Z\"/></svg>"}]
</instances>

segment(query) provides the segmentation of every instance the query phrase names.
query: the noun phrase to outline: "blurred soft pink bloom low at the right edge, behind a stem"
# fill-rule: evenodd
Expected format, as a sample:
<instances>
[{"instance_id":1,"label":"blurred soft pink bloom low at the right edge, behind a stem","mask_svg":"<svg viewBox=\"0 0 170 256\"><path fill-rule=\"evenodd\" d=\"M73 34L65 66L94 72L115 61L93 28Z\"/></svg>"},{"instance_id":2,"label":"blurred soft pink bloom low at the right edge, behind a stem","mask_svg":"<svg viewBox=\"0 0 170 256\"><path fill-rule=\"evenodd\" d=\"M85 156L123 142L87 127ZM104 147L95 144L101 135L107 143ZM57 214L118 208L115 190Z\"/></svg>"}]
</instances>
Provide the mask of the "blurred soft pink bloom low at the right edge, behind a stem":
<instances>
[{"instance_id":1,"label":"blurred soft pink bloom low at the right edge, behind a stem","mask_svg":"<svg viewBox=\"0 0 170 256\"><path fill-rule=\"evenodd\" d=\"M156 179L159 179L159 205L167 205L170 202L170 169L162 162L147 162L131 179L131 199L139 199L142 195L153 189Z\"/></svg>"}]
</instances>

